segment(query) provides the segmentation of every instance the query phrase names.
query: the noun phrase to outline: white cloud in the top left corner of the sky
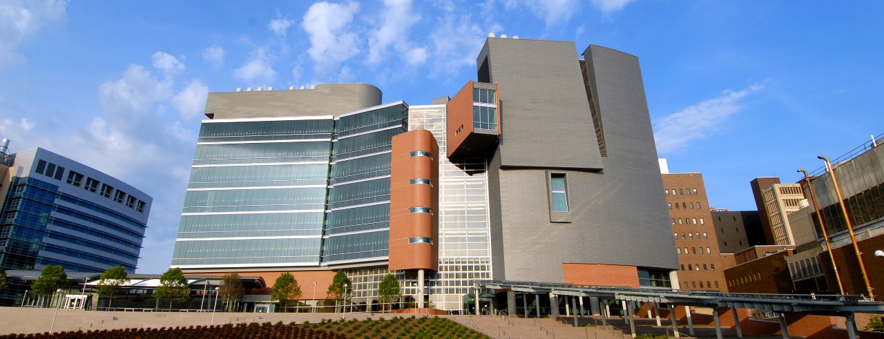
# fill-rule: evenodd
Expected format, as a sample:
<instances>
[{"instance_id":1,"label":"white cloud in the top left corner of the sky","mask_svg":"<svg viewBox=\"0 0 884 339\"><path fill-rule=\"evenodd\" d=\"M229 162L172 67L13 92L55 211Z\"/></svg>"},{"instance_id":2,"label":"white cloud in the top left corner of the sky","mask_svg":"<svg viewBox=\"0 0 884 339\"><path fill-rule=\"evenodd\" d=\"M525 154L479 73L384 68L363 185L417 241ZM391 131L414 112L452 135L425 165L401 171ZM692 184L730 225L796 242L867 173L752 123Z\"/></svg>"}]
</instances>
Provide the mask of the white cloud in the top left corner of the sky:
<instances>
[{"instance_id":1,"label":"white cloud in the top left corner of the sky","mask_svg":"<svg viewBox=\"0 0 884 339\"><path fill-rule=\"evenodd\" d=\"M0 69L24 62L15 49L43 26L64 21L66 6L65 0L0 2Z\"/></svg>"}]
</instances>

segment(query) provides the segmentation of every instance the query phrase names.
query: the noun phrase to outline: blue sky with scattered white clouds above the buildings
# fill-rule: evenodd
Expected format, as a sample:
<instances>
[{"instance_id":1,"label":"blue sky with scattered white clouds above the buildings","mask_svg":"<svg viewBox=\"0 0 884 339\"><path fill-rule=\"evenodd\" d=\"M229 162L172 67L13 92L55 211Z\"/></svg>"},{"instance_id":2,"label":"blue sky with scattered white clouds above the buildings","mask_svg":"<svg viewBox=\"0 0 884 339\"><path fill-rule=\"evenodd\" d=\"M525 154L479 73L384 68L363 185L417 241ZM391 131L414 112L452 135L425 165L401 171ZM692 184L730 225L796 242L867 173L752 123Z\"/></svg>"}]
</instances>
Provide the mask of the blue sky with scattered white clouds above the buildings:
<instances>
[{"instance_id":1,"label":"blue sky with scattered white clouds above the buildings","mask_svg":"<svg viewBox=\"0 0 884 339\"><path fill-rule=\"evenodd\" d=\"M659 155L749 210L752 178L795 182L884 132L880 18L877 1L4 0L0 137L149 193L138 271L163 272L208 91L366 82L426 104L476 78L494 32L638 56Z\"/></svg>"}]
</instances>

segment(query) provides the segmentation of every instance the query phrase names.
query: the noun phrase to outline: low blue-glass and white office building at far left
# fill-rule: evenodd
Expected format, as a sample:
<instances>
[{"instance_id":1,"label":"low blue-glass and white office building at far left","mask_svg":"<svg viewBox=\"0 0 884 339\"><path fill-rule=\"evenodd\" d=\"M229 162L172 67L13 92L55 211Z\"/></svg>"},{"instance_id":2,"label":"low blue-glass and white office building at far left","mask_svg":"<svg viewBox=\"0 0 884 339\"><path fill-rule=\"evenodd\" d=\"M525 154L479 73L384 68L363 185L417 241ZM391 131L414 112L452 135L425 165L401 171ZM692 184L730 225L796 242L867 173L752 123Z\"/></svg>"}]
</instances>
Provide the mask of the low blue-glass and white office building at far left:
<instances>
[{"instance_id":1,"label":"low blue-glass and white office building at far left","mask_svg":"<svg viewBox=\"0 0 884 339\"><path fill-rule=\"evenodd\" d=\"M134 273L152 199L80 162L33 148L0 166L0 267Z\"/></svg>"}]
</instances>

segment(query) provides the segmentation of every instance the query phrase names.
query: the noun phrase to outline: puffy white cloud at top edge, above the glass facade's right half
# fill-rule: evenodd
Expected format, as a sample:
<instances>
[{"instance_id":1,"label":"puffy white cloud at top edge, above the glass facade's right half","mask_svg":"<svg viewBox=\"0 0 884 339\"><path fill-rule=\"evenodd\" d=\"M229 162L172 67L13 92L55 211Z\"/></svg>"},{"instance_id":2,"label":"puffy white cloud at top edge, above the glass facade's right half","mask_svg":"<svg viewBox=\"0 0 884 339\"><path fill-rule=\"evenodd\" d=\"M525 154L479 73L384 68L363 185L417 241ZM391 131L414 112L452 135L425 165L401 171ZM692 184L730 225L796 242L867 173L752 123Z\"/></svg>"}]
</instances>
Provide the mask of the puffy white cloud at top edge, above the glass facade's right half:
<instances>
[{"instance_id":1,"label":"puffy white cloud at top edge, above the glass facade's right half","mask_svg":"<svg viewBox=\"0 0 884 339\"><path fill-rule=\"evenodd\" d=\"M339 64L359 53L359 37L348 31L359 4L316 3L304 14L301 23L310 37L307 50L317 68Z\"/></svg>"}]
</instances>

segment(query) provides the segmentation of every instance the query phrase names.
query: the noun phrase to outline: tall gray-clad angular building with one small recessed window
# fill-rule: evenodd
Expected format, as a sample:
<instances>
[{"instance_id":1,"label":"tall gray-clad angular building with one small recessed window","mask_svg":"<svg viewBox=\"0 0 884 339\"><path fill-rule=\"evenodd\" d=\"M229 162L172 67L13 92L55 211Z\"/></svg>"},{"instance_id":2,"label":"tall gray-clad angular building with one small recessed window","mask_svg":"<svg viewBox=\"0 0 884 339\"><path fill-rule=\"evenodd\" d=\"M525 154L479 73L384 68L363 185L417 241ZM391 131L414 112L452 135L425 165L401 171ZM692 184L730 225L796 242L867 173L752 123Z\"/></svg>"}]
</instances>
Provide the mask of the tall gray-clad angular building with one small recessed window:
<instances>
[{"instance_id":1,"label":"tall gray-clad angular building with one small recessed window","mask_svg":"<svg viewBox=\"0 0 884 339\"><path fill-rule=\"evenodd\" d=\"M642 280L678 267L638 59L583 56L574 42L489 38L476 60L479 82L499 86L493 279L605 284L599 267Z\"/></svg>"}]
</instances>

